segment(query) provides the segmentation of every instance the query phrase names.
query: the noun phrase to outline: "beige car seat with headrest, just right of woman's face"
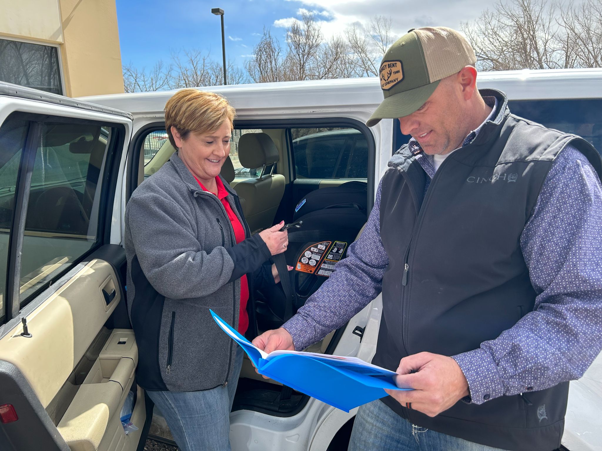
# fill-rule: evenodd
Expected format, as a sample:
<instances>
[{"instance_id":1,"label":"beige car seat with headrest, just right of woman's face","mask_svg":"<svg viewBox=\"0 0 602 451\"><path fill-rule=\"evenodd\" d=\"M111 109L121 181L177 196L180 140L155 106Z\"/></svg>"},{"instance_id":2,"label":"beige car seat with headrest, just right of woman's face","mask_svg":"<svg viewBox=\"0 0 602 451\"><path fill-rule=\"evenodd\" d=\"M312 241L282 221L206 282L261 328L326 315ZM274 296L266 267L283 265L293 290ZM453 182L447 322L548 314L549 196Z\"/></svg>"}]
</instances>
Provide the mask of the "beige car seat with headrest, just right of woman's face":
<instances>
[{"instance_id":1,"label":"beige car seat with headrest, just right of woman's face","mask_svg":"<svg viewBox=\"0 0 602 451\"><path fill-rule=\"evenodd\" d=\"M266 133L245 133L240 137L240 164L245 168L262 168L258 178L241 180L234 187L241 198L244 217L253 233L272 227L276 210L284 195L284 176L273 174L274 164L278 159L278 149ZM272 171L265 174L268 165L272 165Z\"/></svg>"}]
</instances>

